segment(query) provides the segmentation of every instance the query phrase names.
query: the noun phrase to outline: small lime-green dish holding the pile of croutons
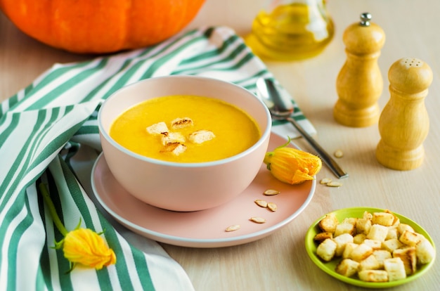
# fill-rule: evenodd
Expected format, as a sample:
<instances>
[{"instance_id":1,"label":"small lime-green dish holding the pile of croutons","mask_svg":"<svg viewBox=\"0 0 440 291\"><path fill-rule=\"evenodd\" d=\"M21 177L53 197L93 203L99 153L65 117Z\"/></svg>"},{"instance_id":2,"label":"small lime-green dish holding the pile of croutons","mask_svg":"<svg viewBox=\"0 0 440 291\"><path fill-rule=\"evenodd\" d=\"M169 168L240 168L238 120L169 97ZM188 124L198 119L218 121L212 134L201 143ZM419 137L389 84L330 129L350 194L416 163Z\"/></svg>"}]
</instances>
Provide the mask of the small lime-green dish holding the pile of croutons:
<instances>
[{"instance_id":1,"label":"small lime-green dish holding the pile of croutons","mask_svg":"<svg viewBox=\"0 0 440 291\"><path fill-rule=\"evenodd\" d=\"M370 207L352 207L352 208L339 209L339 210L336 210L331 213L336 214L337 219L339 221L342 221L344 218L347 218L347 217L361 218L363 216L363 212L365 212L365 211L370 212L370 213L383 212L384 209L370 208ZM427 240L429 240L429 242L432 243L434 250L436 251L434 241L429 236L429 234L425 231L425 229L422 228L422 226L416 224L414 221L412 221L411 219L408 219L405 216L402 216L402 215L397 214L395 212L393 212L393 214L396 215L397 217L399 217L401 223L408 224L408 225L412 226L417 233L424 235L425 238L427 238ZM309 254L309 257L311 258L313 263L315 263L316 266L318 266L321 270L323 270L325 273L328 273L330 276L337 278L338 280L342 280L345 283L349 283L351 285L356 285L356 286L360 286L360 287L367 287L367 288L395 287L398 285L406 284L408 282L411 282L411 281L419 278L420 276L425 274L429 270L429 268L431 268L432 265L434 264L435 257L434 257L434 259L432 259L432 261L429 264L418 265L418 270L413 275L410 275L403 280L396 280L396 281L392 281L392 282L383 282L383 283L365 282L365 281L359 280L357 276L353 276L353 277L342 276L339 273L336 273L336 271L335 271L335 268L336 268L337 264L339 264L339 261L341 261L341 258L335 258L335 259L332 259L331 261L325 262L325 261L321 260L316 255L316 248L318 247L318 244L313 240L313 238L315 237L315 235L317 233L322 232L321 229L319 228L318 224L319 224L319 221L321 221L321 219L323 219L324 217L325 217L325 215L323 215L319 219L317 219L312 224L312 226L309 228L309 231L307 231L307 233L306 233L307 254Z\"/></svg>"}]
</instances>

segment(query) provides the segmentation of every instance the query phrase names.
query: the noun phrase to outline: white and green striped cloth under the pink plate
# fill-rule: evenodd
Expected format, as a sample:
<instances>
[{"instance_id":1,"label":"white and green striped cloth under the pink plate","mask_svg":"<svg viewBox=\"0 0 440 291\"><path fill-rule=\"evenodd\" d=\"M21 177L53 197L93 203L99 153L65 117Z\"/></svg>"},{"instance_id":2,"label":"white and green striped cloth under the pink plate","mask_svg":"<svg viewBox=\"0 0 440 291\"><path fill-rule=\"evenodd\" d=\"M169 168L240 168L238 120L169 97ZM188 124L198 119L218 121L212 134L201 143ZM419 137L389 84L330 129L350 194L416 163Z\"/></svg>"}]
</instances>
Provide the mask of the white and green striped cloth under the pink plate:
<instances>
[{"instance_id":1,"label":"white and green striped cloth under the pink plate","mask_svg":"<svg viewBox=\"0 0 440 291\"><path fill-rule=\"evenodd\" d=\"M193 290L158 243L117 224L89 192L90 168L101 150L101 103L122 86L163 75L213 77L253 92L258 77L272 77L232 30L204 27L156 46L53 65L1 103L0 290ZM297 107L295 118L314 132ZM296 134L283 124L276 128ZM87 158L77 158L84 150ZM105 230L117 264L67 273L69 262L52 248L62 235L39 193L41 182L67 230L80 220L84 228Z\"/></svg>"}]
</instances>

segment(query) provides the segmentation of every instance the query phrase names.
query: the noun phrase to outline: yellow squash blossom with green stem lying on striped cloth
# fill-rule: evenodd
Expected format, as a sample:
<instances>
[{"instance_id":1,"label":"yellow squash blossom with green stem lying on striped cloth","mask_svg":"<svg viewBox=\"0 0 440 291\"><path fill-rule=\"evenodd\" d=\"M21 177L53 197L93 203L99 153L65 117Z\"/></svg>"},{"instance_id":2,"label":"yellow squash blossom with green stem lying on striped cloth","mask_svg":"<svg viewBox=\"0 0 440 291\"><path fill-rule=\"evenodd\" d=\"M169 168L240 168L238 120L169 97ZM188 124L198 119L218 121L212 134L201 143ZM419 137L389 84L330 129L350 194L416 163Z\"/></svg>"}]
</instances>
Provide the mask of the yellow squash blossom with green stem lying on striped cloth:
<instances>
[{"instance_id":1,"label":"yellow squash blossom with green stem lying on striped cloth","mask_svg":"<svg viewBox=\"0 0 440 291\"><path fill-rule=\"evenodd\" d=\"M63 248L64 257L72 263L70 271L75 267L75 264L82 264L97 270L103 269L103 266L116 264L115 252L99 236L102 233L96 233L89 228L79 228L81 221L79 221L75 230L67 231L56 213L46 186L41 183L39 188L51 213L53 223L58 228L58 231L64 235L63 240L55 243L55 248Z\"/></svg>"}]
</instances>

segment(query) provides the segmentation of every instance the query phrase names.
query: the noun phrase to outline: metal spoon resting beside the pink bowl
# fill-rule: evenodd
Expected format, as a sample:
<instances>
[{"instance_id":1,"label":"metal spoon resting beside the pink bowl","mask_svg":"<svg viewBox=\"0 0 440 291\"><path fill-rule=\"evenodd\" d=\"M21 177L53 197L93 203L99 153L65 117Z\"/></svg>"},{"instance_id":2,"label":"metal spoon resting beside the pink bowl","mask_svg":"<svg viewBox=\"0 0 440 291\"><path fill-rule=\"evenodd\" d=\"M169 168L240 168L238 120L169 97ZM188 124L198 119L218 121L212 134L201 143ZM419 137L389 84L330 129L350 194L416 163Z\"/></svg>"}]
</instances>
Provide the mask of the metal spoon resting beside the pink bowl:
<instances>
[{"instance_id":1,"label":"metal spoon resting beside the pink bowl","mask_svg":"<svg viewBox=\"0 0 440 291\"><path fill-rule=\"evenodd\" d=\"M349 176L335 160L319 145L310 134L305 131L302 126L292 118L293 105L290 99L286 98L276 88L276 85L271 79L260 78L257 80L257 89L261 93L261 97L264 103L267 105L268 110L271 112L273 119L287 120L299 131L306 141L310 143L319 157L325 164L332 170L332 172L339 178L345 178Z\"/></svg>"}]
</instances>

